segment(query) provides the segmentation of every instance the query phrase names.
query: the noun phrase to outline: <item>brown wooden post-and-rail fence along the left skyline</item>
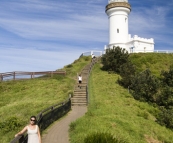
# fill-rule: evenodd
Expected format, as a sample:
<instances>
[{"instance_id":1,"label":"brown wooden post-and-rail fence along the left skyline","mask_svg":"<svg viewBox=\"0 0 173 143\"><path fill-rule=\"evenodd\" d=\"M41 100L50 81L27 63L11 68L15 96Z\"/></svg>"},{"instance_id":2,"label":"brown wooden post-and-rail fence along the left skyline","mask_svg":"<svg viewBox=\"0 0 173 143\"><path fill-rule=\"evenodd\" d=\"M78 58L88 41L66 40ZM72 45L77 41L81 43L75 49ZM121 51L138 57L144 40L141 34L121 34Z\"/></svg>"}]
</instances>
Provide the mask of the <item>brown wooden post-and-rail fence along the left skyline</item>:
<instances>
[{"instance_id":1,"label":"brown wooden post-and-rail fence along the left skyline","mask_svg":"<svg viewBox=\"0 0 173 143\"><path fill-rule=\"evenodd\" d=\"M53 77L53 75L55 74L66 75L66 71L58 70L58 71L41 71L41 72L22 72L22 71L6 72L6 73L0 73L0 81L29 79L29 78L32 79L43 75L50 75L51 77Z\"/></svg>"}]
</instances>

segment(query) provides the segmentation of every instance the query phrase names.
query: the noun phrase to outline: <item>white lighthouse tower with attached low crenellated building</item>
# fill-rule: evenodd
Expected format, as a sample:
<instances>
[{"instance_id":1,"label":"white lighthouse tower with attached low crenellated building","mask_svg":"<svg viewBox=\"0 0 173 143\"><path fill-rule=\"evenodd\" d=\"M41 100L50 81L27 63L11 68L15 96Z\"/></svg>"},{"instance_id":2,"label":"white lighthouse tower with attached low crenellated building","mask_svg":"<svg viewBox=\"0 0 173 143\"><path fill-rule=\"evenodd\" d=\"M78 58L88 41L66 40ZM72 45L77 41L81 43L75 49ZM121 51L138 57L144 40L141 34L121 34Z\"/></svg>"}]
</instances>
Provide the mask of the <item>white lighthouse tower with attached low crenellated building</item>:
<instances>
[{"instance_id":1,"label":"white lighthouse tower with attached low crenellated building","mask_svg":"<svg viewBox=\"0 0 173 143\"><path fill-rule=\"evenodd\" d=\"M109 19L109 44L105 49L119 46L129 53L154 52L154 39L146 39L134 35L128 30L128 15L131 6L128 0L108 0L106 14Z\"/></svg>"}]
</instances>

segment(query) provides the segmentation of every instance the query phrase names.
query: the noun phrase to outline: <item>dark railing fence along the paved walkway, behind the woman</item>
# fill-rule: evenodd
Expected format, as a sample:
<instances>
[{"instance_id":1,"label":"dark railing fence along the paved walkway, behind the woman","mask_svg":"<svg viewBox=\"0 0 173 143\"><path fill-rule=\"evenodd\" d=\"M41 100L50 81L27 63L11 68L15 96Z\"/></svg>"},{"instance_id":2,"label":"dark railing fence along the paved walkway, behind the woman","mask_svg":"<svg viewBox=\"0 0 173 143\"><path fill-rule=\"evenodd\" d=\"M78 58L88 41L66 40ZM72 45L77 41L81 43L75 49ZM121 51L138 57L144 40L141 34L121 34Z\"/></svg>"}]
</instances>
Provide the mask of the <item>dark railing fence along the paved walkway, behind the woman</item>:
<instances>
[{"instance_id":1,"label":"dark railing fence along the paved walkway, behind the woman","mask_svg":"<svg viewBox=\"0 0 173 143\"><path fill-rule=\"evenodd\" d=\"M71 110L71 98L59 104L50 106L37 115L40 131L45 130L50 124L58 120ZM10 143L27 143L28 135L17 136Z\"/></svg>"}]
</instances>

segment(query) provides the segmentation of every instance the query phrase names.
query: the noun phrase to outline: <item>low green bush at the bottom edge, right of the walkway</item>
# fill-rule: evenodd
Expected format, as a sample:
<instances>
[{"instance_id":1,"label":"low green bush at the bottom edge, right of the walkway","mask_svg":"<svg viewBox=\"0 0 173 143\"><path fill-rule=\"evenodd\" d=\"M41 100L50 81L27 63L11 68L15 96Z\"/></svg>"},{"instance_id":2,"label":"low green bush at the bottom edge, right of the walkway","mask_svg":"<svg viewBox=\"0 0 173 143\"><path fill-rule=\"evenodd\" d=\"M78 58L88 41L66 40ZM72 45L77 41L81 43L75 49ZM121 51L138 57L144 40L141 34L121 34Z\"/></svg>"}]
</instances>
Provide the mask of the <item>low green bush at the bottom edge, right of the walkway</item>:
<instances>
[{"instance_id":1,"label":"low green bush at the bottom edge, right of the walkway","mask_svg":"<svg viewBox=\"0 0 173 143\"><path fill-rule=\"evenodd\" d=\"M125 143L125 141L116 139L109 133L93 133L84 139L84 143Z\"/></svg>"}]
</instances>

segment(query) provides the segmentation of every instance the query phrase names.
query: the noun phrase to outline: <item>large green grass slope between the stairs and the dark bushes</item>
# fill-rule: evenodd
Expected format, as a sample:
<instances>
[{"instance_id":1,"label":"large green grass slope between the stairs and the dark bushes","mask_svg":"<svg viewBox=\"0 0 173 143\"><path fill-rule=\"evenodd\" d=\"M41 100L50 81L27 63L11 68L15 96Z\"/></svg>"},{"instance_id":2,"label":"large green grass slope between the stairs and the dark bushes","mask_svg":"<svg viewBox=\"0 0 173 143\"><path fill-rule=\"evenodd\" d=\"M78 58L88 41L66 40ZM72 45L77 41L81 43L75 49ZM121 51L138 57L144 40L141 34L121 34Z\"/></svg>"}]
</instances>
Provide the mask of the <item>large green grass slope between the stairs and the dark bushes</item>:
<instances>
[{"instance_id":1,"label":"large green grass slope between the stairs and the dark bushes","mask_svg":"<svg viewBox=\"0 0 173 143\"><path fill-rule=\"evenodd\" d=\"M157 64L156 64L157 65ZM107 132L128 143L173 142L173 132L155 122L158 110L134 100L117 84L118 75L95 65L90 76L88 112L71 124L71 143L83 143L92 133Z\"/></svg>"}]
</instances>

